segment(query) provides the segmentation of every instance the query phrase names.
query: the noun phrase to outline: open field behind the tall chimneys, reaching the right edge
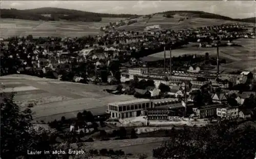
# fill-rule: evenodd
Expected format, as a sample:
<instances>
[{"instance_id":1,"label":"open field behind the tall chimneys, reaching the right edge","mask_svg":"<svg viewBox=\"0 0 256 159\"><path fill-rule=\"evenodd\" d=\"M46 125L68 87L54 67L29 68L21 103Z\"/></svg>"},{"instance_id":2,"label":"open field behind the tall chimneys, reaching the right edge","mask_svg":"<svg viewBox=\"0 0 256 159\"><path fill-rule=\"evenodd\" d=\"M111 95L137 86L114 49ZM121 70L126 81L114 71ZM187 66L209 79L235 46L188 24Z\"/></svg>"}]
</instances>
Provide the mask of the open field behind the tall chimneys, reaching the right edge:
<instances>
[{"instance_id":1,"label":"open field behind the tall chimneys, reaching the right edge","mask_svg":"<svg viewBox=\"0 0 256 159\"><path fill-rule=\"evenodd\" d=\"M228 59L231 63L222 65L221 70L248 70L256 72L256 39L240 38L234 40L234 43L241 44L243 47L220 47L220 59ZM182 49L172 50L172 57L183 55L205 55L208 52L209 56L217 56L217 48L196 48L184 47ZM148 55L147 58L164 59L164 52ZM166 58L169 58L169 51L166 51Z\"/></svg>"}]
</instances>

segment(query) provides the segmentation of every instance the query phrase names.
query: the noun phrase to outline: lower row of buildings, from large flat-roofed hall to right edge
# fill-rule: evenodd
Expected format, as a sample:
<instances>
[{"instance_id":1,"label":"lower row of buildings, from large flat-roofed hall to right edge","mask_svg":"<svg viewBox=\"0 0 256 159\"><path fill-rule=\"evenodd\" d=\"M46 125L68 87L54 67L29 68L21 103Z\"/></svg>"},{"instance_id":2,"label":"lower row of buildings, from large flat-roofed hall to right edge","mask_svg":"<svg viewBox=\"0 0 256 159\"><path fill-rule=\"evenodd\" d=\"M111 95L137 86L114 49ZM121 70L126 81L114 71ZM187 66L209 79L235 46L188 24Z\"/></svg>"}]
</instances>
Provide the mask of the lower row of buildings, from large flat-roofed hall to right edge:
<instances>
[{"instance_id":1,"label":"lower row of buildings, from large flat-roofed hall to right edge","mask_svg":"<svg viewBox=\"0 0 256 159\"><path fill-rule=\"evenodd\" d=\"M116 119L147 116L148 120L172 120L184 117L188 108L193 110L189 117L198 119L212 117L248 119L254 117L255 113L255 110L240 109L239 106L222 103L194 107L192 103L184 103L173 98L113 102L108 104L108 113L111 118Z\"/></svg>"}]
</instances>

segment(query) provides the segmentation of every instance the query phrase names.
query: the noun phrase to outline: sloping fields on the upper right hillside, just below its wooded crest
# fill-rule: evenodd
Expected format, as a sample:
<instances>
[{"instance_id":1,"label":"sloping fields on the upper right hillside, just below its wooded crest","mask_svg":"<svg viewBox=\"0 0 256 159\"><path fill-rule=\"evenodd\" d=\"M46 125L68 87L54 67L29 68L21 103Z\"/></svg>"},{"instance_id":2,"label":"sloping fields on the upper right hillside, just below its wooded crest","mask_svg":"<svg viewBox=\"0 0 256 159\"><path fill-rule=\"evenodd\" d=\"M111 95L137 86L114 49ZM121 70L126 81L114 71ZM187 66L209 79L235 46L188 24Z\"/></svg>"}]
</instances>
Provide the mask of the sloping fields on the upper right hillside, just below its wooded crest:
<instances>
[{"instance_id":1,"label":"sloping fields on the upper right hillside, just below its wooded crest","mask_svg":"<svg viewBox=\"0 0 256 159\"><path fill-rule=\"evenodd\" d=\"M188 19L185 18L183 21L179 21L180 18L182 17L184 16L180 16L176 14L174 15L174 18L166 18L166 17L163 17L163 14L155 14L149 20L143 19L136 22L135 24L119 27L119 29L143 31L146 26L160 25L161 28L164 28L164 29L181 30L181 29L188 29L191 27L197 28L197 27L231 24L231 23L245 24L245 22L230 21L230 20L223 20L223 19L199 18L199 17L188 17Z\"/></svg>"}]
</instances>

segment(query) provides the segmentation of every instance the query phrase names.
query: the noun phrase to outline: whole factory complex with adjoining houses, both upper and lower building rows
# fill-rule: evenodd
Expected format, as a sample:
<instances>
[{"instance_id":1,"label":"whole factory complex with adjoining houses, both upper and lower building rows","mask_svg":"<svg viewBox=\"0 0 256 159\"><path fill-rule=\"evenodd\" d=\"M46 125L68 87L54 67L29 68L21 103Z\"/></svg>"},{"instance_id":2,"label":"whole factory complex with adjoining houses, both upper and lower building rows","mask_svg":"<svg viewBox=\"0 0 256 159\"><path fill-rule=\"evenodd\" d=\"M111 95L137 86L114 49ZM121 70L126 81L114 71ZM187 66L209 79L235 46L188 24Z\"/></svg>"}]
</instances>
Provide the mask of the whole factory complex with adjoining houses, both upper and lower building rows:
<instances>
[{"instance_id":1,"label":"whole factory complex with adjoining houses, both upper and lower building rows","mask_svg":"<svg viewBox=\"0 0 256 159\"><path fill-rule=\"evenodd\" d=\"M242 72L240 75L221 74L218 79L212 78L211 76L207 78L205 75L205 80L198 80L195 76L200 76L200 73L190 74L181 72L170 76L160 73L148 73L145 69L129 69L126 74L122 74L121 76L122 82L134 80L135 77L137 77L138 80L153 80L155 82L155 87L151 87L151 89L135 90L140 94L150 95L151 98L149 99L138 99L127 101L125 103L109 104L109 111L112 118L130 118L147 115L148 119L173 119L177 116L183 116L186 107L193 107L193 116L197 118L209 118L215 116L221 118L249 118L253 116L254 110L240 110L239 105L243 105L244 101L250 98L251 95L256 97L256 92L241 92L240 90L227 89L229 87L229 82L241 84L253 79L253 74L250 72ZM167 94L172 95L173 98L154 98L160 93L159 85L161 83L169 86L170 90ZM208 85L208 88L210 88L208 94L214 104L195 107L193 103L196 94L194 93L205 85ZM123 90L124 89L125 87L123 87ZM217 91L217 89L219 90ZM233 95L235 95L234 100L237 101L237 106L231 106L228 103L228 99ZM184 100L184 97L186 97L186 104L181 102L181 100ZM142 103L141 106L136 106L136 109L134 109L134 105L139 105L140 102ZM145 104L143 104L143 102L145 102ZM125 106L126 108L121 108L120 106ZM131 108L127 108L127 106L131 106ZM123 113L120 114L120 110Z\"/></svg>"}]
</instances>

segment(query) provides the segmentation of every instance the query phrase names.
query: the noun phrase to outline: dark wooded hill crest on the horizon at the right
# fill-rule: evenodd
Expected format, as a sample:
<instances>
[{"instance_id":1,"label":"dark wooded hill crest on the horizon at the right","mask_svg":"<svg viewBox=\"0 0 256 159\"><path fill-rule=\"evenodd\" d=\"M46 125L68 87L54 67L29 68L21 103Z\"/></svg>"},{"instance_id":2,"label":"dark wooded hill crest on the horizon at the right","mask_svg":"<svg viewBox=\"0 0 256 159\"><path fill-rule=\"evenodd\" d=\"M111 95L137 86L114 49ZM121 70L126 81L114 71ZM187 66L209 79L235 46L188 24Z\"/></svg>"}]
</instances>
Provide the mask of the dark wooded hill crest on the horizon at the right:
<instances>
[{"instance_id":1,"label":"dark wooded hill crest on the horizon at the right","mask_svg":"<svg viewBox=\"0 0 256 159\"><path fill-rule=\"evenodd\" d=\"M178 14L178 15L185 16L185 17L223 19L223 20L234 20L234 21L255 23L255 17L244 18L244 19L239 19L239 18L235 19L235 18L231 18L231 17L228 17L228 16L223 16L223 15L208 13L208 12L203 12L203 11L166 11L166 12L161 12L161 13L158 13L158 14L165 14L166 16L173 16L175 14Z\"/></svg>"}]
</instances>

